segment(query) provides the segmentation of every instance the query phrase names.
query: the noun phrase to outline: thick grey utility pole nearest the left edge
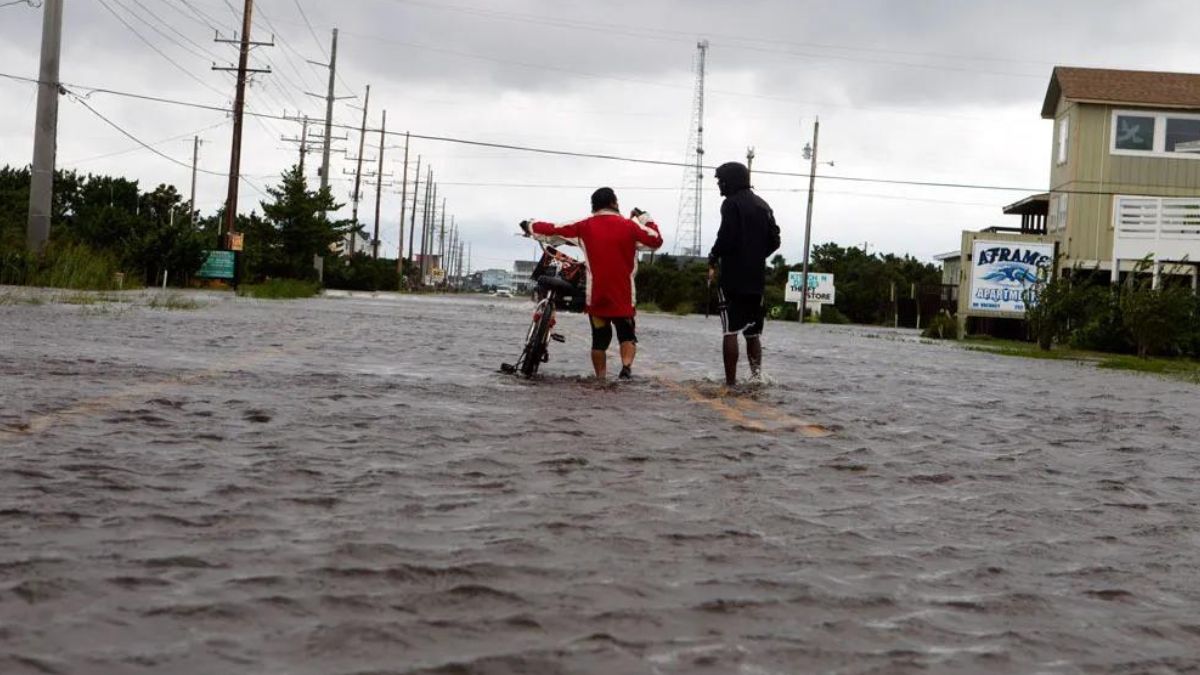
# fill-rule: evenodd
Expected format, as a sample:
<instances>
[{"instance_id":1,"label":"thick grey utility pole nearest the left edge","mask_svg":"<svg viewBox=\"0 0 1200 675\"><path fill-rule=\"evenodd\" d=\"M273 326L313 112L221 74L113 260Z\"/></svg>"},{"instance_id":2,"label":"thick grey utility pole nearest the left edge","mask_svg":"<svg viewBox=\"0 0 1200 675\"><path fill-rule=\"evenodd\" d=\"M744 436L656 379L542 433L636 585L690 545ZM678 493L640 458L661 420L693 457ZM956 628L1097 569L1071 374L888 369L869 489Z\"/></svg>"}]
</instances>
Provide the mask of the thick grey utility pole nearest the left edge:
<instances>
[{"instance_id":1,"label":"thick grey utility pole nearest the left edge","mask_svg":"<svg viewBox=\"0 0 1200 675\"><path fill-rule=\"evenodd\" d=\"M54 163L59 144L59 66L62 61L62 0L46 0L42 8L42 60L37 71L37 121L30 165L29 220L25 246L40 253L50 239L54 210Z\"/></svg>"}]
</instances>

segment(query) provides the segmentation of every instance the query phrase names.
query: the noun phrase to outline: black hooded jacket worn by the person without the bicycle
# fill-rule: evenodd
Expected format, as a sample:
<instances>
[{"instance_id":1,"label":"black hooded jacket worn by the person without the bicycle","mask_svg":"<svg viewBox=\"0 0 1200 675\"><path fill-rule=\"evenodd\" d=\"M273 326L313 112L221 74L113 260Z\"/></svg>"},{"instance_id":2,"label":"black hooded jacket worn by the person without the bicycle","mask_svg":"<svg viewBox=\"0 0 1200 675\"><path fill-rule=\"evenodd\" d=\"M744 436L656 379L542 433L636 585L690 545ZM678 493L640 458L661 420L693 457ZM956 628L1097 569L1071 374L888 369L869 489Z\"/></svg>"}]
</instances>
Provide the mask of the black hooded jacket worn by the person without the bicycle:
<instances>
[{"instance_id":1,"label":"black hooded jacket worn by the person without the bicycle","mask_svg":"<svg viewBox=\"0 0 1200 675\"><path fill-rule=\"evenodd\" d=\"M716 169L725 202L708 264L720 265L720 286L726 295L760 295L767 257L779 250L779 226L767 202L750 189L750 172L731 165Z\"/></svg>"}]
</instances>

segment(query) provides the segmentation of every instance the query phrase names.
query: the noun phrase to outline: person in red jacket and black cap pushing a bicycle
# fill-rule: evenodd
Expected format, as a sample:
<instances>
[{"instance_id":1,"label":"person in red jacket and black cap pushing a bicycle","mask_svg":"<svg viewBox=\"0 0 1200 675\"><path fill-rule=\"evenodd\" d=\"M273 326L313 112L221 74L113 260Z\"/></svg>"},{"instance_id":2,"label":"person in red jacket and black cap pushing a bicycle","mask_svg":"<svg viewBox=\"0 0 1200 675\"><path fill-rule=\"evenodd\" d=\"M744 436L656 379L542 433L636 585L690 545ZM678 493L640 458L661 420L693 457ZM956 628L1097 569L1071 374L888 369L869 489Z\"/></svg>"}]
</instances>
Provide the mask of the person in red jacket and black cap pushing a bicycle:
<instances>
[{"instance_id":1,"label":"person in red jacket and black cap pushing a bicycle","mask_svg":"<svg viewBox=\"0 0 1200 675\"><path fill-rule=\"evenodd\" d=\"M620 215L617 193L601 187L592 193L592 216L571 225L523 222L530 237L547 244L574 244L583 250L588 263L587 312L592 319L592 368L596 378L608 371L608 346L613 328L620 342L620 378L628 380L637 356L637 250L658 250L662 245L659 226L649 214L634 209L630 219Z\"/></svg>"}]
</instances>

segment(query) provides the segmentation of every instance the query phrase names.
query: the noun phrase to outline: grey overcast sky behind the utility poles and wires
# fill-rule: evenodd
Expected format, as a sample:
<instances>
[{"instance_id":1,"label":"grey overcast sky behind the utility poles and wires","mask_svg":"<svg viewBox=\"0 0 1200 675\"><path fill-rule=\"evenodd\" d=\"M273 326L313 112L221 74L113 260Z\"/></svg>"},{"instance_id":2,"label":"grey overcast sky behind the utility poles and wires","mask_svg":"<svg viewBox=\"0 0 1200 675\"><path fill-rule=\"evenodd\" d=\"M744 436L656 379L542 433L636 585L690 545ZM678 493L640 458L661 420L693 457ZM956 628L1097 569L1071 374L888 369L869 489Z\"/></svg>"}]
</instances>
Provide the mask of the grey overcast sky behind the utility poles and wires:
<instances>
[{"instance_id":1,"label":"grey overcast sky behind the utility poles and wires","mask_svg":"<svg viewBox=\"0 0 1200 675\"><path fill-rule=\"evenodd\" d=\"M236 49L214 43L209 24L230 37L241 1L71 0L62 80L80 95L90 86L228 107L233 77L211 65L234 62ZM376 130L385 108L390 131L678 162L696 42L707 38L707 163L744 161L752 145L756 169L806 173L802 150L820 115L821 159L835 162L823 174L1030 191L1046 189L1052 130L1039 112L1055 65L1200 68L1200 4L1181 0L258 0L254 16L253 37L276 42L252 59L274 70L248 91L248 107L263 113L324 115L306 91L323 94L328 71L305 61L325 61L338 28L338 95L359 96L338 102L338 124L361 121L353 106L371 84ZM40 38L41 10L0 7L0 73L36 77ZM34 85L0 78L0 165L29 163L35 100ZM182 165L199 135L200 167L228 171L232 125L222 113L103 92L86 102ZM247 121L242 171L253 184L276 183L296 161L280 137L299 129ZM337 145L355 155L358 135L349 136ZM378 132L367 143L365 154L377 157ZM382 239L395 256L403 138L386 145L385 172L397 185L385 189ZM512 237L520 220L581 217L600 185L617 189L624 210L650 211L674 246L682 168L414 139L410 163L416 155L432 165L476 269L511 267L530 250ZM318 163L308 157L312 180ZM185 195L190 181L188 168L70 97L59 166L138 179L146 190L169 183ZM343 171L352 169L335 155L335 193L347 203ZM720 207L710 174L706 249ZM799 258L808 180L757 175L755 184L782 227L782 253ZM224 193L223 178L202 175L197 205L211 213ZM1001 208L1027 193L820 179L814 243L929 259L955 250L962 229L1019 225ZM240 209L260 199L244 186ZM368 228L373 214L371 190L360 210Z\"/></svg>"}]
</instances>

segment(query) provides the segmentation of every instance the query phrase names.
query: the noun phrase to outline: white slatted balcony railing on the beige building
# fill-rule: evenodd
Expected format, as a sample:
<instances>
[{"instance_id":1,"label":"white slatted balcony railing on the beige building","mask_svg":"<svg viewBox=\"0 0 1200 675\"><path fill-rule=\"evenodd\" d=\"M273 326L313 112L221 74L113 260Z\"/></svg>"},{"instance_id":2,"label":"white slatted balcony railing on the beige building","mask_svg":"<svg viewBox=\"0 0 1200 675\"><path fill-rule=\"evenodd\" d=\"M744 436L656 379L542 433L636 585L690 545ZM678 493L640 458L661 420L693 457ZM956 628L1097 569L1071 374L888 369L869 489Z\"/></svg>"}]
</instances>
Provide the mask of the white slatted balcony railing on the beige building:
<instances>
[{"instance_id":1,"label":"white slatted balcony railing on the beige building","mask_svg":"<svg viewBox=\"0 0 1200 675\"><path fill-rule=\"evenodd\" d=\"M1112 258L1200 262L1200 197L1116 197Z\"/></svg>"}]
</instances>

